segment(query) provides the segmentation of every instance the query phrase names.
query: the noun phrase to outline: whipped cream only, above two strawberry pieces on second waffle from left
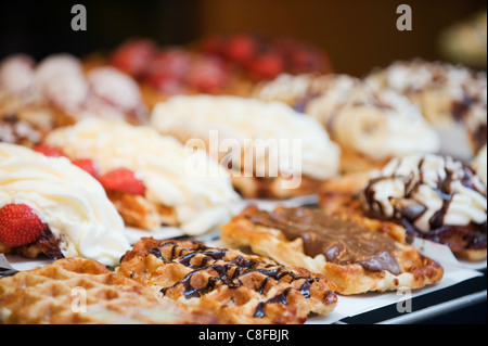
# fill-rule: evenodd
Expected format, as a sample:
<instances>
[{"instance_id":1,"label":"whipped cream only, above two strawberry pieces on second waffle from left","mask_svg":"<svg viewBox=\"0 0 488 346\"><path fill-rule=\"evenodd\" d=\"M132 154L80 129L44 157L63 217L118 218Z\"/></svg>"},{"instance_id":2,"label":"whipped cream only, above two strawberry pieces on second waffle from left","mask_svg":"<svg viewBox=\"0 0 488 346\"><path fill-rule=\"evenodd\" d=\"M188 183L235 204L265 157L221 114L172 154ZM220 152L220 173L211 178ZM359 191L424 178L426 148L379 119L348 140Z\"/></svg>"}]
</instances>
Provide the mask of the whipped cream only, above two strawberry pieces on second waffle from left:
<instances>
[{"instance_id":1,"label":"whipped cream only, above two strawberry pieces on second waffle from left","mask_svg":"<svg viewBox=\"0 0 488 346\"><path fill-rule=\"evenodd\" d=\"M131 169L146 187L145 197L176 209L180 228L197 234L227 222L239 201L229 174L206 152L185 151L175 138L145 126L87 118L46 139L69 157L93 159L101 174Z\"/></svg>"}]
</instances>

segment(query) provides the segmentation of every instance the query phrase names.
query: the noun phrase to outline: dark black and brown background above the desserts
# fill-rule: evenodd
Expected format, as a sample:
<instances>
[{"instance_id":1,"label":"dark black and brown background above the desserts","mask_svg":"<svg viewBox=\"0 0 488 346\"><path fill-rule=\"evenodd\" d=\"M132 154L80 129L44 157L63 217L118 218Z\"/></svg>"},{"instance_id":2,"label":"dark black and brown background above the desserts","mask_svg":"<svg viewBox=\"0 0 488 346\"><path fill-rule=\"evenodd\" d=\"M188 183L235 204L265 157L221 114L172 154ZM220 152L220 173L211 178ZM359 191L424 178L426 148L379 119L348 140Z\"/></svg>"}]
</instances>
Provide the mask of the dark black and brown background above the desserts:
<instances>
[{"instance_id":1,"label":"dark black and brown background above the desserts","mask_svg":"<svg viewBox=\"0 0 488 346\"><path fill-rule=\"evenodd\" d=\"M87 8L88 30L74 31L70 9ZM396 9L412 8L413 30L399 31ZM362 75L397 59L442 60L439 33L480 0L78 0L1 1L0 59L15 52L82 56L131 36L185 44L211 33L291 35L325 49L339 73Z\"/></svg>"}]
</instances>

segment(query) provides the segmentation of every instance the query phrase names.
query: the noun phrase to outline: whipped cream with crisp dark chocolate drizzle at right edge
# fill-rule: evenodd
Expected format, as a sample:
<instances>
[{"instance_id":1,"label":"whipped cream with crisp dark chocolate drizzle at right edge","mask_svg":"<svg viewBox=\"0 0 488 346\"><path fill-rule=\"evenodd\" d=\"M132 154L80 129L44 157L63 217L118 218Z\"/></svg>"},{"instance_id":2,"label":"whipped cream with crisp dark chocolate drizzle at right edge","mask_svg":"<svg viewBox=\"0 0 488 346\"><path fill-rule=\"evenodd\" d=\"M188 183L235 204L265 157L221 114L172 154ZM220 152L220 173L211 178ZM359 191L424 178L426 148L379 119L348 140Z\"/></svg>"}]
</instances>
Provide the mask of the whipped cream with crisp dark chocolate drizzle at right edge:
<instances>
[{"instance_id":1,"label":"whipped cream with crisp dark chocolate drizzle at right edge","mask_svg":"<svg viewBox=\"0 0 488 346\"><path fill-rule=\"evenodd\" d=\"M487 191L470 166L450 156L409 155L373 171L363 206L386 218L409 220L420 232L442 226L483 225Z\"/></svg>"}]
</instances>

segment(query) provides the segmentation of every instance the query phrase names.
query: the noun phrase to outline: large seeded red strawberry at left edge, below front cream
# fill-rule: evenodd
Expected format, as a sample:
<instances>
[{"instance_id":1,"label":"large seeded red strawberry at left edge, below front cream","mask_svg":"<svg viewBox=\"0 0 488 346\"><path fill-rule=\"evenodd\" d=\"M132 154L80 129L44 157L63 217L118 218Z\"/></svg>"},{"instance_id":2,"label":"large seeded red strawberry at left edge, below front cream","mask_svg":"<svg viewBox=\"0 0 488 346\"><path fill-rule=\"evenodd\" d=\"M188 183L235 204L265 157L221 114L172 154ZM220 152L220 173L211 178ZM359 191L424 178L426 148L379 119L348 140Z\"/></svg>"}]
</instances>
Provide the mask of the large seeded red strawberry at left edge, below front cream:
<instances>
[{"instance_id":1,"label":"large seeded red strawberry at left edge, below front cream","mask_svg":"<svg viewBox=\"0 0 488 346\"><path fill-rule=\"evenodd\" d=\"M0 209L0 242L22 246L38 240L48 225L26 204L7 204Z\"/></svg>"}]
</instances>

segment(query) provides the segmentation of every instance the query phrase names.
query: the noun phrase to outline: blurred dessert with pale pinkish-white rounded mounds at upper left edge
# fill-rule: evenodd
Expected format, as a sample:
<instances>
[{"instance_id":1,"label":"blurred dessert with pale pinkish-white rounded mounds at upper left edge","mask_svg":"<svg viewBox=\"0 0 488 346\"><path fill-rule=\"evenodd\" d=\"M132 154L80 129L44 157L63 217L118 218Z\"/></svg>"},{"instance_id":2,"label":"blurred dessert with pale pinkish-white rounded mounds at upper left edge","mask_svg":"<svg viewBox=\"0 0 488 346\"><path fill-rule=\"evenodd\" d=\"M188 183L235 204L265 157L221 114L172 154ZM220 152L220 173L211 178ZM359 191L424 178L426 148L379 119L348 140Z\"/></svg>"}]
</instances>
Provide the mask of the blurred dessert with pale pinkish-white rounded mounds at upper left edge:
<instances>
[{"instance_id":1,"label":"blurred dessert with pale pinkish-white rounded mounds at upper left edge","mask_svg":"<svg viewBox=\"0 0 488 346\"><path fill-rule=\"evenodd\" d=\"M0 139L35 145L53 128L85 117L145 121L147 107L139 86L114 67L85 71L69 54L38 64L27 55L0 63Z\"/></svg>"}]
</instances>

